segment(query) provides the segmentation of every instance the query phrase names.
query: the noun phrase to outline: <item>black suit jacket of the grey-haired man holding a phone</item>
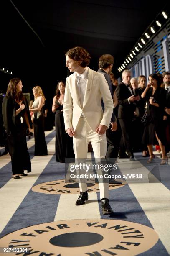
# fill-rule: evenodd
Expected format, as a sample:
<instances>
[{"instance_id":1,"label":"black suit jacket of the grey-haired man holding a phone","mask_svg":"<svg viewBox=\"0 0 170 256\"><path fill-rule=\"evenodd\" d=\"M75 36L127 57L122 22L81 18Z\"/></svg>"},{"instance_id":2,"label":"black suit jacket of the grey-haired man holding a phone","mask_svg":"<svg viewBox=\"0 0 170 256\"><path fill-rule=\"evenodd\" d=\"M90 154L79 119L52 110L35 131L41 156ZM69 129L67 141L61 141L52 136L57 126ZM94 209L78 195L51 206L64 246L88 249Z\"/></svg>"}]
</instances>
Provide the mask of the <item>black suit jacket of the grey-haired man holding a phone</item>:
<instances>
[{"instance_id":1,"label":"black suit jacket of the grey-haired man holding a phone","mask_svg":"<svg viewBox=\"0 0 170 256\"><path fill-rule=\"evenodd\" d=\"M132 119L134 117L134 110L136 105L128 102L128 98L132 96L126 84L123 82L116 88L117 100L119 103L117 118Z\"/></svg>"}]
</instances>

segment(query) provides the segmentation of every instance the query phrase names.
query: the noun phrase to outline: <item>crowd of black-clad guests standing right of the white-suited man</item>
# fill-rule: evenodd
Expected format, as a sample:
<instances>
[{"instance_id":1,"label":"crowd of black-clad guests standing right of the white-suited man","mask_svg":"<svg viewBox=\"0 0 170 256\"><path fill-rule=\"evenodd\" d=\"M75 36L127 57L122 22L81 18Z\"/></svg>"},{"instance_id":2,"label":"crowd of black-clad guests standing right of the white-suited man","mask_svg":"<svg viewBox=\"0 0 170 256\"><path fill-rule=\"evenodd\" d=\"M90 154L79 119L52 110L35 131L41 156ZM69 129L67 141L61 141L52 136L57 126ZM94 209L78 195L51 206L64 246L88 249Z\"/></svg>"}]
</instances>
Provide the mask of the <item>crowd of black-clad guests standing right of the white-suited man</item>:
<instances>
[{"instance_id":1,"label":"crowd of black-clad guests standing right of the white-suited man","mask_svg":"<svg viewBox=\"0 0 170 256\"><path fill-rule=\"evenodd\" d=\"M116 86L115 92L119 157L134 161L133 152L142 151L143 157L150 156L148 163L151 163L155 158L152 146L158 144L161 164L165 164L170 151L170 72L150 74L147 82L144 75L131 78L130 70L124 70L122 83ZM113 155L117 156L118 153Z\"/></svg>"}]
</instances>

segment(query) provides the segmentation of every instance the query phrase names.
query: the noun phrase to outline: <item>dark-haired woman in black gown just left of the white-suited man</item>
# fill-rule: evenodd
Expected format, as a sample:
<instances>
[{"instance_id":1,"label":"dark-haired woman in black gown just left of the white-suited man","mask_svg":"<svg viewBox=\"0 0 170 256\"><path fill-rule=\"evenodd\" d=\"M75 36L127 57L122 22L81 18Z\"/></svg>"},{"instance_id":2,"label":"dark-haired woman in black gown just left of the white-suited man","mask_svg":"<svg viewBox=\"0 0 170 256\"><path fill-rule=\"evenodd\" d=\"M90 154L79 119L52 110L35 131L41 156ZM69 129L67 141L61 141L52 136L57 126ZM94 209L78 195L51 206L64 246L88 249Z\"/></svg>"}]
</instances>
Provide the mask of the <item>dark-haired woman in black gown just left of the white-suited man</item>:
<instances>
[{"instance_id":1,"label":"dark-haired woman in black gown just left of the white-suited man","mask_svg":"<svg viewBox=\"0 0 170 256\"><path fill-rule=\"evenodd\" d=\"M73 138L71 138L65 131L63 118L63 100L65 92L65 83L58 82L56 89L56 96L53 98L52 111L55 115L56 127L56 161L65 163L66 158L74 158L73 152Z\"/></svg>"}]
</instances>

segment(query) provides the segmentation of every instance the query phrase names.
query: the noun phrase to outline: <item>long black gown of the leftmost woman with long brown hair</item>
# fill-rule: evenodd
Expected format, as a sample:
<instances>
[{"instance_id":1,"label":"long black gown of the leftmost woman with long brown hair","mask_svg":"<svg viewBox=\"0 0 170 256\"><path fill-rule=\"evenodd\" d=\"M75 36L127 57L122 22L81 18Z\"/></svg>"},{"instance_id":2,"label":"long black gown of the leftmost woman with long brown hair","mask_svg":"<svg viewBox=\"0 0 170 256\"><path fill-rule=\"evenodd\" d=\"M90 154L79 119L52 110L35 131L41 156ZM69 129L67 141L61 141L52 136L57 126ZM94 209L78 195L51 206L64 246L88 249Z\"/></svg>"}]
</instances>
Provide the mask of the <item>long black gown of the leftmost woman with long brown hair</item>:
<instances>
[{"instance_id":1,"label":"long black gown of the leftmost woman with long brown hair","mask_svg":"<svg viewBox=\"0 0 170 256\"><path fill-rule=\"evenodd\" d=\"M26 111L28 120L30 121L30 113L26 102L23 101L23 103L25 109L16 116L15 112L20 108L20 105L12 97L5 96L2 105L3 121L7 133L13 175L23 174L24 170L31 172L30 156L26 142L27 126L24 120L24 113ZM21 117L23 117L23 123L21 123Z\"/></svg>"}]
</instances>

